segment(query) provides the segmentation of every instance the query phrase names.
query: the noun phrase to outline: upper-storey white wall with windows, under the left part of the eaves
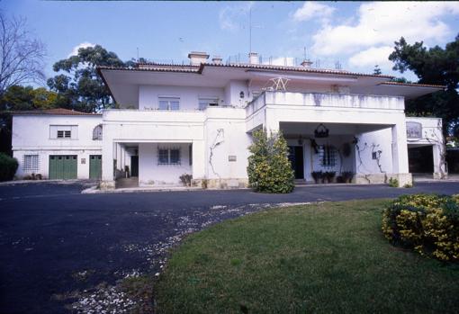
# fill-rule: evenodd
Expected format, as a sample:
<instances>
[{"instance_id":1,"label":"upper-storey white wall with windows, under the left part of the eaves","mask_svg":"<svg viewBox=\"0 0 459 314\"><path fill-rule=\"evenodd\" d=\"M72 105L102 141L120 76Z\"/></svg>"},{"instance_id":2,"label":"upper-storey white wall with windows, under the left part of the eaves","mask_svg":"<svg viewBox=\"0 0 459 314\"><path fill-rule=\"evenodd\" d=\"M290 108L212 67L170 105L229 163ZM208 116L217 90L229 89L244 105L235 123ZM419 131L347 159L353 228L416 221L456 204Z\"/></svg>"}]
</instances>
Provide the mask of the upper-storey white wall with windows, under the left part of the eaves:
<instances>
[{"instance_id":1,"label":"upper-storey white wall with windows, under the left part of the eaves","mask_svg":"<svg viewBox=\"0 0 459 314\"><path fill-rule=\"evenodd\" d=\"M199 98L219 98L219 105L224 104L223 88L140 85L139 109L157 109L158 98L162 96L179 97L180 110L198 110Z\"/></svg>"}]
</instances>

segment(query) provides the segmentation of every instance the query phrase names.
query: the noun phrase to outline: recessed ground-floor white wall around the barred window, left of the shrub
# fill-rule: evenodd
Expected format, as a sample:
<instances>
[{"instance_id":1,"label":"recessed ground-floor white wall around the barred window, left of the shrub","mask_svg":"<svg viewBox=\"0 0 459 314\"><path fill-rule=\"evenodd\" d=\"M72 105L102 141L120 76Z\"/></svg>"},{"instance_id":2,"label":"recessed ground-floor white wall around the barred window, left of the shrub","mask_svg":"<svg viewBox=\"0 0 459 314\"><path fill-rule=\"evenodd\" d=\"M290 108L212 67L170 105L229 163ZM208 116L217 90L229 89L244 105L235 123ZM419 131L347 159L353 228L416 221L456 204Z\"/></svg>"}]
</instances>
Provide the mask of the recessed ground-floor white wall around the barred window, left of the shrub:
<instances>
[{"instance_id":1,"label":"recessed ground-floor white wall around the barred window, left of the shrub","mask_svg":"<svg viewBox=\"0 0 459 314\"><path fill-rule=\"evenodd\" d=\"M140 143L139 144L139 186L181 184L180 175L192 174L189 143ZM158 148L179 148L180 165L158 165Z\"/></svg>"}]
</instances>

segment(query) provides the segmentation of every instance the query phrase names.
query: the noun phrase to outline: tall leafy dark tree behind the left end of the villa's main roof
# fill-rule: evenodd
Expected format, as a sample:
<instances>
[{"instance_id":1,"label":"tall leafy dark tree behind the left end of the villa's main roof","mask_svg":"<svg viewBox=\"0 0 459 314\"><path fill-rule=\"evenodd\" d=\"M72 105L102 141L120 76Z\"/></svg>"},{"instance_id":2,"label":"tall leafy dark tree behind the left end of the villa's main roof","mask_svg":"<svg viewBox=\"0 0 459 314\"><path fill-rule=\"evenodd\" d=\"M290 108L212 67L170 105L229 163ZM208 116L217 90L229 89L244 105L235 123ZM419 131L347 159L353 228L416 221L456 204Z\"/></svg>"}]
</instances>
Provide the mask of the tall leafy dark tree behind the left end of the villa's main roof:
<instances>
[{"instance_id":1,"label":"tall leafy dark tree behind the left end of the villa's main roof","mask_svg":"<svg viewBox=\"0 0 459 314\"><path fill-rule=\"evenodd\" d=\"M80 48L76 56L56 62L57 76L48 80L49 88L58 93L58 106L82 112L97 112L112 104L110 93L95 67L123 67L124 62L102 46Z\"/></svg>"}]
</instances>

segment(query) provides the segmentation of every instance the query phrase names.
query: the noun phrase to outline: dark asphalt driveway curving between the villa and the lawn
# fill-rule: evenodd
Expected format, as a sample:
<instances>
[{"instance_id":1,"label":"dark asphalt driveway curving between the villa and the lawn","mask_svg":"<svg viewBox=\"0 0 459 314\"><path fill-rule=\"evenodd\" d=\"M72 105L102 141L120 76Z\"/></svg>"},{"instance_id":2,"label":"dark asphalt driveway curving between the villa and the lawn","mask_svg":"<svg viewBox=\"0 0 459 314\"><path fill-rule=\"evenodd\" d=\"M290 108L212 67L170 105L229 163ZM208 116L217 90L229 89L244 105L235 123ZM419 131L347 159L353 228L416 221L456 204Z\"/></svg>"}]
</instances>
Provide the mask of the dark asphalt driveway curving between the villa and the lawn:
<instances>
[{"instance_id":1,"label":"dark asphalt driveway curving between the villa and the lawn","mask_svg":"<svg viewBox=\"0 0 459 314\"><path fill-rule=\"evenodd\" d=\"M81 194L85 187L0 185L0 312L97 312L103 302L121 301L128 309L130 300L113 288L117 281L160 272L167 248L189 232L275 204L459 193L459 183L452 182L411 189L302 186L283 195L249 190Z\"/></svg>"}]
</instances>

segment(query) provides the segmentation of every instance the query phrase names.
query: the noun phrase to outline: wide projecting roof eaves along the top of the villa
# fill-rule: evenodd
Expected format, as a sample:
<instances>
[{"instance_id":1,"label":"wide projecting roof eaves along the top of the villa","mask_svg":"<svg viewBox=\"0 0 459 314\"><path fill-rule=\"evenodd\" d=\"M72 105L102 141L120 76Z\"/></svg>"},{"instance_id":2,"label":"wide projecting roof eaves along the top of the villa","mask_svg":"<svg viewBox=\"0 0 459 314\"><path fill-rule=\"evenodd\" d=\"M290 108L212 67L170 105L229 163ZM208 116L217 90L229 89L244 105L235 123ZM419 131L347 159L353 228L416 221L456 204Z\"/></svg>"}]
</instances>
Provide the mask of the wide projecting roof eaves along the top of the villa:
<instances>
[{"instance_id":1,"label":"wide projecting roof eaves along the top of the villa","mask_svg":"<svg viewBox=\"0 0 459 314\"><path fill-rule=\"evenodd\" d=\"M264 67L201 67L109 68L97 71L108 86L115 102L123 105L139 104L139 85L203 86L224 88L231 80L247 80L266 85L271 78L285 77L292 86L345 85L351 94L403 96L413 99L443 90L445 86L397 84L390 76L363 76L338 71L293 71ZM287 88L288 89L288 88Z\"/></svg>"}]
</instances>

